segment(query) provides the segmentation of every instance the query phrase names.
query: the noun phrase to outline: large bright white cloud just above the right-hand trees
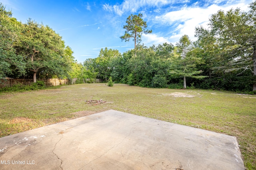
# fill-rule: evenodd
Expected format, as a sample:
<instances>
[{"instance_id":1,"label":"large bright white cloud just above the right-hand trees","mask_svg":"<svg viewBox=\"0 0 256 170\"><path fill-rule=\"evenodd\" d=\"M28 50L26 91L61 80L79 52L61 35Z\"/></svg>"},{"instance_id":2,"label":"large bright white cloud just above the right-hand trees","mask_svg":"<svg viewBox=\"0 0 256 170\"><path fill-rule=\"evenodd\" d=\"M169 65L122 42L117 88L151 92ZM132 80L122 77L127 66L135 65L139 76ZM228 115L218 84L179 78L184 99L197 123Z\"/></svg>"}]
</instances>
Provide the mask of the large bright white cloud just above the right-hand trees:
<instances>
[{"instance_id":1,"label":"large bright white cloud just above the right-hand trees","mask_svg":"<svg viewBox=\"0 0 256 170\"><path fill-rule=\"evenodd\" d=\"M155 21L158 24L170 25L174 27L172 36L168 37L169 41L175 44L182 35L188 35L190 39L196 40L194 37L194 30L196 27L202 25L207 28L209 23L209 18L212 14L216 14L218 10L230 10L239 7L241 10L248 10L248 4L245 2L240 2L232 5L218 6L212 4L206 8L194 6L194 7L184 7L178 11L167 12L161 16L156 16Z\"/></svg>"}]
</instances>

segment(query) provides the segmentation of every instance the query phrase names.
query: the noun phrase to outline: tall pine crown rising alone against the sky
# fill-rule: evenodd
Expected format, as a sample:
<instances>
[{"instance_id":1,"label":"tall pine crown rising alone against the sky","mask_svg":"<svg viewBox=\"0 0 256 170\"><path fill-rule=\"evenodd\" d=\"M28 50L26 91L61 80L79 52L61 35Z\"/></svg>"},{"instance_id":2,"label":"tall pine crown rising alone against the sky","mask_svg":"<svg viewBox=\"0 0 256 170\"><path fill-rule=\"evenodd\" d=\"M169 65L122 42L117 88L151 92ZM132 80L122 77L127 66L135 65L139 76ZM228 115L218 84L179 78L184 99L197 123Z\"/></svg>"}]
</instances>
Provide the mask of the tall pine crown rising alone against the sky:
<instances>
[{"instance_id":1,"label":"tall pine crown rising alone against the sky","mask_svg":"<svg viewBox=\"0 0 256 170\"><path fill-rule=\"evenodd\" d=\"M133 38L134 49L136 49L136 43L141 41L142 33L148 34L152 33L152 30L146 29L148 27L146 21L142 20L142 14L130 15L126 20L127 25L124 25L124 35L120 38L125 41L129 41L130 38Z\"/></svg>"}]
</instances>

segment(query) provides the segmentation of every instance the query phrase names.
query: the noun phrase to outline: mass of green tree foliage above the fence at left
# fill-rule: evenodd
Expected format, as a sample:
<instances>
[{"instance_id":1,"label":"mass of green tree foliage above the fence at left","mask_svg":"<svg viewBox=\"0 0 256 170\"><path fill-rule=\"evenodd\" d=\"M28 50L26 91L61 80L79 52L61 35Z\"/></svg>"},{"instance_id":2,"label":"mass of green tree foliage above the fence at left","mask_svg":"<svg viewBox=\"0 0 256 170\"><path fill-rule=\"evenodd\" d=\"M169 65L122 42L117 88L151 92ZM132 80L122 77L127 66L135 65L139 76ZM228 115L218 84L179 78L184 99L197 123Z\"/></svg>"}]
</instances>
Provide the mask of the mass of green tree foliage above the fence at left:
<instances>
[{"instance_id":1,"label":"mass of green tree foliage above the fence at left","mask_svg":"<svg viewBox=\"0 0 256 170\"><path fill-rule=\"evenodd\" d=\"M0 3L0 78L68 78L72 50L49 26L30 18L21 23Z\"/></svg>"}]
</instances>

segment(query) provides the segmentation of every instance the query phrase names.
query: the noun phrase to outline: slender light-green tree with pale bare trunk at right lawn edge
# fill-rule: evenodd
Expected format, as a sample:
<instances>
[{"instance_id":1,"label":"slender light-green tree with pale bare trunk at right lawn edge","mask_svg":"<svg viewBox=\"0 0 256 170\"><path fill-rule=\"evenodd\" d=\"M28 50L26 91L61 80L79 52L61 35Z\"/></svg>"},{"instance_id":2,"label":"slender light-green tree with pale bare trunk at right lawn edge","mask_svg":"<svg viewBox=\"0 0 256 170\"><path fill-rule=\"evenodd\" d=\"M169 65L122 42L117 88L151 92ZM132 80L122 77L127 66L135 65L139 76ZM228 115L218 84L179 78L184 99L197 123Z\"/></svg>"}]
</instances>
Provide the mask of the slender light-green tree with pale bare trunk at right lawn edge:
<instances>
[{"instance_id":1,"label":"slender light-green tree with pale bare trunk at right lawn edge","mask_svg":"<svg viewBox=\"0 0 256 170\"><path fill-rule=\"evenodd\" d=\"M186 77L204 78L205 76L198 76L202 70L196 68L197 64L201 63L201 58L194 55L192 48L192 41L188 35L183 35L180 41L176 44L178 57L172 60L171 73L183 77L183 88L186 89Z\"/></svg>"}]
</instances>

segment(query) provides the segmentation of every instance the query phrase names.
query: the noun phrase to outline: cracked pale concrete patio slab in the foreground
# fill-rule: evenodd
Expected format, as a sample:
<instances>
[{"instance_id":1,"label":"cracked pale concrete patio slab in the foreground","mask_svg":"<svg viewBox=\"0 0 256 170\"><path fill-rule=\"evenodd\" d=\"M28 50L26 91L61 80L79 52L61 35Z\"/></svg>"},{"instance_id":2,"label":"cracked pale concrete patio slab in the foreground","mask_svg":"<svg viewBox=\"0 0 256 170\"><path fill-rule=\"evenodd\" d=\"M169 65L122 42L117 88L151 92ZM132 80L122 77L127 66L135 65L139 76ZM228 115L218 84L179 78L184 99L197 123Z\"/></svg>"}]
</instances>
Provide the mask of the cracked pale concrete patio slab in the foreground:
<instances>
[{"instance_id":1,"label":"cracked pale concrete patio slab in the foreground","mask_svg":"<svg viewBox=\"0 0 256 170\"><path fill-rule=\"evenodd\" d=\"M108 110L0 138L0 169L244 170L236 137Z\"/></svg>"}]
</instances>

